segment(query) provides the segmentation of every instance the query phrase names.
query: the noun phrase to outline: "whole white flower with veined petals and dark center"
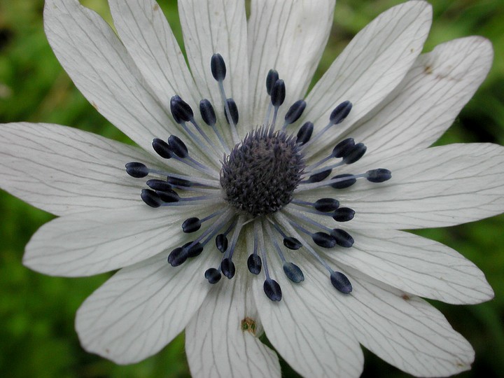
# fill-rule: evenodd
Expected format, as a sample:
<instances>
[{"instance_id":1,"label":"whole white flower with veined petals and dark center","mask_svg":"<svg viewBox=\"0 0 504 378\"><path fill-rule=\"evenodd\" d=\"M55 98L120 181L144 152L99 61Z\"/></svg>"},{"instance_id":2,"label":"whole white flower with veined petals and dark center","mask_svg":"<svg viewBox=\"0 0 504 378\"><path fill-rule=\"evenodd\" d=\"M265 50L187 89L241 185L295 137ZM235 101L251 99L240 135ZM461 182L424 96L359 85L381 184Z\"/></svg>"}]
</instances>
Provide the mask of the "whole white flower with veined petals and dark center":
<instances>
[{"instance_id":1,"label":"whole white flower with veined petals and dark center","mask_svg":"<svg viewBox=\"0 0 504 378\"><path fill-rule=\"evenodd\" d=\"M420 55L431 10L408 1L365 27L304 97L328 38L332 0L253 0L248 23L242 1L179 1L190 70L154 0L109 3L118 36L76 0L47 0L45 30L79 90L141 148L59 125L0 129L1 187L59 216L31 239L25 265L61 276L120 269L78 310L83 347L134 363L185 329L195 377L279 377L276 353L258 339L265 331L306 377L357 377L360 344L409 374L467 370L470 344L420 297L472 304L493 292L456 251L398 230L504 211L504 148L428 148L482 83L489 42L461 38ZM270 69L285 80L284 101L283 82ZM236 125L225 121L222 96L234 100L230 111L237 106ZM211 114L210 126L199 112L190 115L187 104L196 110L202 99L214 104L215 127ZM267 126L276 117L282 130L298 99L307 106L286 127L293 138L254 134L264 131L257 127L267 114ZM272 109L272 101L283 106ZM300 111L304 103L297 105ZM202 108L210 111L207 102ZM296 143L307 121L313 136ZM183 140L189 158L171 135ZM342 159L320 162L342 141ZM268 159L266 145L276 159ZM230 158L228 146L235 146ZM317 169L341 160L332 176L357 176L314 179ZM170 202L177 195L168 189L148 191L146 179L128 176L129 162L144 164L128 165L133 176L161 179L157 172L166 172L195 185L179 182L173 188L183 199ZM267 185L257 183L262 176ZM328 185L351 181L348 188ZM167 184L149 181L160 185ZM334 200L316 202L325 198L339 208ZM207 216L196 234L182 232L186 219L198 217L184 225L198 228ZM179 248L190 241L208 244L191 257L199 244ZM246 269L251 254L249 269L259 274ZM209 283L221 269L234 278Z\"/></svg>"}]
</instances>

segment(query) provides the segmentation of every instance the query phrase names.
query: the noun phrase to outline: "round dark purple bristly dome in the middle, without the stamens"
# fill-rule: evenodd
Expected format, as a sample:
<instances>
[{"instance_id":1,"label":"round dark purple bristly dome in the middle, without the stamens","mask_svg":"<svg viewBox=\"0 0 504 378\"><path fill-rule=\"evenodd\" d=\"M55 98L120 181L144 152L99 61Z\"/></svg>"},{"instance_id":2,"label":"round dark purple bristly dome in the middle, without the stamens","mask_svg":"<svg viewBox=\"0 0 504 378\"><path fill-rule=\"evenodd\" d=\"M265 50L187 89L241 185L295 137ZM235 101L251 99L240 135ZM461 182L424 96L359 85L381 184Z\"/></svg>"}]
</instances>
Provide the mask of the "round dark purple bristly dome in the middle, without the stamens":
<instances>
[{"instance_id":1,"label":"round dark purple bristly dome in the middle, without the stamens","mask_svg":"<svg viewBox=\"0 0 504 378\"><path fill-rule=\"evenodd\" d=\"M253 217L272 214L292 200L303 168L294 137L260 127L247 134L223 162L225 200Z\"/></svg>"}]
</instances>

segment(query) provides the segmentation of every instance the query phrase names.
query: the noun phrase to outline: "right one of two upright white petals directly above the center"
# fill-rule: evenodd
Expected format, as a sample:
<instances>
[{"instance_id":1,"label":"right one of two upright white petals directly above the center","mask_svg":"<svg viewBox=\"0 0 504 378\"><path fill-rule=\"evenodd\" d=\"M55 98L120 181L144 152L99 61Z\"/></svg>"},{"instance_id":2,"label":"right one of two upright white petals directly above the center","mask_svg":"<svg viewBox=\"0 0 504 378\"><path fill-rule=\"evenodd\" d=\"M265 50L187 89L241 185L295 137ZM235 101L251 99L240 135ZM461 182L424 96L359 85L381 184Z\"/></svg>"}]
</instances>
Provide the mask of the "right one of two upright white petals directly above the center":
<instances>
[{"instance_id":1,"label":"right one of two upright white petals directly above the center","mask_svg":"<svg viewBox=\"0 0 504 378\"><path fill-rule=\"evenodd\" d=\"M248 56L253 125L262 123L269 104L265 85L269 69L276 69L286 82L284 111L304 97L329 37L334 6L334 0L251 2Z\"/></svg>"}]
</instances>

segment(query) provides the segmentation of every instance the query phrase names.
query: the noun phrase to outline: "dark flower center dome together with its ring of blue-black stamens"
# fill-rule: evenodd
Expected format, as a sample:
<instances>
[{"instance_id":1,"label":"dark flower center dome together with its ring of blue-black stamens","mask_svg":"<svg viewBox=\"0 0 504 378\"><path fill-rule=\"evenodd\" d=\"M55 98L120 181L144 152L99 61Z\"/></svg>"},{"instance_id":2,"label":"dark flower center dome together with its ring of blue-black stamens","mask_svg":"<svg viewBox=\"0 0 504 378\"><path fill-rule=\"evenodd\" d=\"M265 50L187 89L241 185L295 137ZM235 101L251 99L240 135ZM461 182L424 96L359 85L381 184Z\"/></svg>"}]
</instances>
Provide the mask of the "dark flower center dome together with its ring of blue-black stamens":
<instances>
[{"instance_id":1,"label":"dark flower center dome together with its ring of blue-black stamens","mask_svg":"<svg viewBox=\"0 0 504 378\"><path fill-rule=\"evenodd\" d=\"M318 188L332 188L336 195L338 190L350 190L358 180L382 183L391 179L391 172L382 168L329 178L333 170L351 165L365 155L366 146L355 143L352 138L339 141L325 158L307 163L305 156L311 145L326 137L328 134L325 133L332 127L344 122L351 111L351 102L335 106L327 125L318 131L314 132L314 124L307 121L299 127L297 134L290 134L286 132L287 127L297 123L307 106L300 99L290 106L283 125L275 130L286 87L278 72L272 69L266 78L271 102L262 126L248 132L240 142L236 127L238 107L225 94L226 67L221 55L211 57L211 72L221 92L225 117L218 120L211 102L202 99L201 120L208 127L204 126L195 118L191 106L178 95L172 97L170 111L186 137L192 139L193 146L215 161L226 156L220 172L216 167L193 158L193 151L189 151L175 135L170 135L167 141L154 139L153 149L161 158L186 165L188 173L174 174L170 169L149 168L141 162L126 165L126 172L132 177L155 176L155 179L146 181L148 189L141 190L141 199L148 206L165 209L184 206L199 217L202 214L201 218L193 216L181 223L182 232L194 234L195 238L186 239L185 244L174 248L167 256L168 263L173 267L182 265L200 255L205 246L214 241L216 249L222 253L221 262L217 267L209 267L204 276L211 284L218 283L223 275L232 279L236 273L235 259L241 264L245 262L244 253L235 252L245 248L245 243L239 241L243 239L241 230L246 228L253 235L253 251L248 251L246 266L251 274L264 272L263 289L270 300L279 301L282 297L279 283L269 274L268 261L271 259L281 262L283 272L291 282L304 281L302 269L290 261L296 254L284 254L283 248L303 248L327 270L332 286L341 293L350 293L350 280L344 273L334 270L324 255L325 251L333 249L344 253L353 246L353 237L344 230L344 225L332 228L334 226L328 227L327 221L320 220L332 218L339 225L351 221L356 213L349 207L340 207L332 195L315 202L303 200L303 197L307 198L304 194L309 192L316 193ZM223 118L229 127L224 135L219 131L225 130ZM214 138L208 134L210 130ZM234 148L229 147L230 139Z\"/></svg>"}]
</instances>

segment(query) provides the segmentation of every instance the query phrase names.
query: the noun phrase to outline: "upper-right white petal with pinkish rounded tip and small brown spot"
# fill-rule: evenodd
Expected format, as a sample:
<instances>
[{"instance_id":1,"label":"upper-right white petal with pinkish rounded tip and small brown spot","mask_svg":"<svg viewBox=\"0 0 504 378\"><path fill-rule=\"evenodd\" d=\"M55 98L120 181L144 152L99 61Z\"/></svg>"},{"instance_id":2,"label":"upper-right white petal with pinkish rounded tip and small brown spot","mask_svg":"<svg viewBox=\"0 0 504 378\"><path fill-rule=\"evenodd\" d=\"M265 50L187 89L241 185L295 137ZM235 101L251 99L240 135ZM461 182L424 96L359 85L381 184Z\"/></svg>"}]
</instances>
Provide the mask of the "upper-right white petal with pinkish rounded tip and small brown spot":
<instances>
[{"instance_id":1,"label":"upper-right white petal with pinkish rounded tip and small brown spot","mask_svg":"<svg viewBox=\"0 0 504 378\"><path fill-rule=\"evenodd\" d=\"M402 83L345 134L367 146L378 161L433 144L481 85L493 57L481 37L438 45L416 59Z\"/></svg>"}]
</instances>

